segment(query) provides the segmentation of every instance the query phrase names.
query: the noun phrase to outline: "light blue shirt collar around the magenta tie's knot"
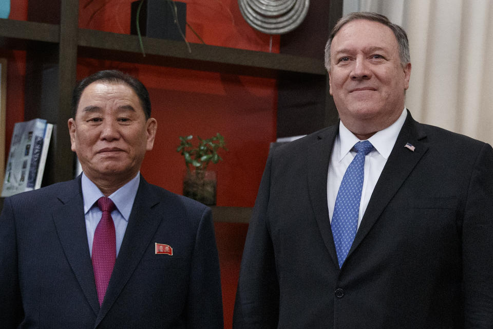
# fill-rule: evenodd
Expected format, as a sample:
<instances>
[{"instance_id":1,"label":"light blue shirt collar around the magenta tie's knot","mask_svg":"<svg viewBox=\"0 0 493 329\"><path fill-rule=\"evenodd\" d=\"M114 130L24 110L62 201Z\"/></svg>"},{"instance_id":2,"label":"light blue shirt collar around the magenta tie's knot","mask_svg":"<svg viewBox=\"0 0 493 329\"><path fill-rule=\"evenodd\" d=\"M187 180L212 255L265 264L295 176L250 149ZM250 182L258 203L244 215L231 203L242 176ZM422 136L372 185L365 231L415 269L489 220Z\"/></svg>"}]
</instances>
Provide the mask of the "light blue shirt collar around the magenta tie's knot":
<instances>
[{"instance_id":1,"label":"light blue shirt collar around the magenta tie's knot","mask_svg":"<svg viewBox=\"0 0 493 329\"><path fill-rule=\"evenodd\" d=\"M132 178L127 184L113 192L109 198L115 203L124 220L128 222L130 212L134 206L135 196L140 183L140 172ZM82 196L84 199L84 214L86 214L97 202L104 196L99 188L84 173L82 173Z\"/></svg>"}]
</instances>

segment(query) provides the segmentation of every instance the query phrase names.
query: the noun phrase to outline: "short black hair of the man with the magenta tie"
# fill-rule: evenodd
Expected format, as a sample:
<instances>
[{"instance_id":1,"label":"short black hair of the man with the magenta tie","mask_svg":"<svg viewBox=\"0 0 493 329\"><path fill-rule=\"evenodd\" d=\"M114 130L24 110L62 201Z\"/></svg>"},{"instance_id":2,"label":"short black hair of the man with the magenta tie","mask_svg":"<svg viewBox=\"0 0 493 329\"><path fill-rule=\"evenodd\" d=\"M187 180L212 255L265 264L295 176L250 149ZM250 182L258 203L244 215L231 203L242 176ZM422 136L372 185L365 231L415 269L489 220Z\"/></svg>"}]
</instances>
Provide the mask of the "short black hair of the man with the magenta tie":
<instances>
[{"instance_id":1,"label":"short black hair of the man with the magenta tie","mask_svg":"<svg viewBox=\"0 0 493 329\"><path fill-rule=\"evenodd\" d=\"M103 70L96 72L87 78L81 80L77 86L73 89L72 93L72 118L75 119L75 113L77 113L77 107L79 106L79 101L81 100L82 92L84 89L93 82L101 81L107 83L115 84L125 84L130 88L134 89L134 92L140 99L140 105L145 113L145 118L150 118L150 98L149 93L145 86L137 78L134 78L128 74L125 74L118 70Z\"/></svg>"}]
</instances>

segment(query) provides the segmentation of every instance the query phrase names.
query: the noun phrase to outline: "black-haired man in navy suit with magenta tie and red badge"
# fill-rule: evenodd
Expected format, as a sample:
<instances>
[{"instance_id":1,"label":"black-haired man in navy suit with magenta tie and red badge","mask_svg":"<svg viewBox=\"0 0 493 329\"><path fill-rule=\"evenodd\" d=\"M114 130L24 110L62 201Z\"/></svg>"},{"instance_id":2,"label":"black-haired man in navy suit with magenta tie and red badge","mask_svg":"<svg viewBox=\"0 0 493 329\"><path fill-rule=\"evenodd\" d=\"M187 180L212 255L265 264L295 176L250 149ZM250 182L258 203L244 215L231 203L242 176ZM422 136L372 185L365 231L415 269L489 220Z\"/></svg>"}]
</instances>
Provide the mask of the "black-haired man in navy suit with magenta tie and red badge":
<instances>
[{"instance_id":1,"label":"black-haired man in navy suit with magenta tie and red badge","mask_svg":"<svg viewBox=\"0 0 493 329\"><path fill-rule=\"evenodd\" d=\"M222 328L211 210L139 172L157 129L145 87L100 71L72 111L83 173L5 199L0 327Z\"/></svg>"}]
</instances>

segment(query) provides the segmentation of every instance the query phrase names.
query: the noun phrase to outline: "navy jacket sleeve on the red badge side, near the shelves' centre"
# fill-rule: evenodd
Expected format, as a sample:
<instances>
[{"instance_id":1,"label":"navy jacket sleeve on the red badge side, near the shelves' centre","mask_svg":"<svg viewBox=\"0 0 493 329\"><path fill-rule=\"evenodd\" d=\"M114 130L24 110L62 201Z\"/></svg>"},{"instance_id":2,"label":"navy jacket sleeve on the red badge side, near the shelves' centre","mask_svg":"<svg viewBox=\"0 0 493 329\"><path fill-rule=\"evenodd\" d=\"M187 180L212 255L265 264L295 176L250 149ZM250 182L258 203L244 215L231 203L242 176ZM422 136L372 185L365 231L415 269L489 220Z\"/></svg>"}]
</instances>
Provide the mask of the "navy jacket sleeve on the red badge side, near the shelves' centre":
<instances>
[{"instance_id":1,"label":"navy jacket sleeve on the red badge side, near the shelves' centre","mask_svg":"<svg viewBox=\"0 0 493 329\"><path fill-rule=\"evenodd\" d=\"M203 212L197 230L190 272L187 328L223 328L219 257L209 208Z\"/></svg>"}]
</instances>

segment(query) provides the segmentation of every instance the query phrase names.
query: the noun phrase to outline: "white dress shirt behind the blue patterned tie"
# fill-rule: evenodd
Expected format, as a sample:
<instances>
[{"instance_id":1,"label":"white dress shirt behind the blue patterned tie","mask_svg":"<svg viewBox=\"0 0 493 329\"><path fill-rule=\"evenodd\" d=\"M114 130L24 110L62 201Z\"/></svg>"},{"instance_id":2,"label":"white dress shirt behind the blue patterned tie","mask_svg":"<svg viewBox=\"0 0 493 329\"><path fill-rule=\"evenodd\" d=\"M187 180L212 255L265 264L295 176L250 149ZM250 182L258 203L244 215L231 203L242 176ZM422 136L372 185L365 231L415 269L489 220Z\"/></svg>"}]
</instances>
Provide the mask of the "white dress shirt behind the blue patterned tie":
<instances>
[{"instance_id":1,"label":"white dress shirt behind the blue patterned tie","mask_svg":"<svg viewBox=\"0 0 493 329\"><path fill-rule=\"evenodd\" d=\"M392 125L377 132L368 139L374 149L365 157L365 177L363 180L361 202L359 203L358 228L359 224L361 224L361 219L368 206L376 182L384 169L385 163L394 147L397 136L399 136L399 133L401 132L406 117L407 111L404 107L401 116L392 123ZM339 134L334 141L334 147L332 148L329 162L329 172L327 175L327 204L329 206L331 223L340 182L343 180L346 169L356 155L356 152L352 150L353 146L359 141L360 140L344 126L343 122L340 121Z\"/></svg>"}]
</instances>

